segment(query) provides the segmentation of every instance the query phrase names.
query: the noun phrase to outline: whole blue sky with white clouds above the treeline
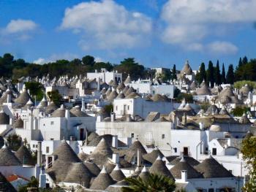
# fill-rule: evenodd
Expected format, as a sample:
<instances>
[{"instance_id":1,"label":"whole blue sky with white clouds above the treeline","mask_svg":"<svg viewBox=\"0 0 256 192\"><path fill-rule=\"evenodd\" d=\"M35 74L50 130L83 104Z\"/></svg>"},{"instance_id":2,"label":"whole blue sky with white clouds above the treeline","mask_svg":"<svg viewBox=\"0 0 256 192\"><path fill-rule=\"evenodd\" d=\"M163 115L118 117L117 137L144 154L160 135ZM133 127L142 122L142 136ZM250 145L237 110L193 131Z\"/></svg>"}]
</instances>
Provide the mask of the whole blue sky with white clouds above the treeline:
<instances>
[{"instance_id":1,"label":"whole blue sky with white clouds above the treeline","mask_svg":"<svg viewBox=\"0 0 256 192\"><path fill-rule=\"evenodd\" d=\"M256 58L255 0L2 0L0 54L39 64L94 55L178 69Z\"/></svg>"}]
</instances>

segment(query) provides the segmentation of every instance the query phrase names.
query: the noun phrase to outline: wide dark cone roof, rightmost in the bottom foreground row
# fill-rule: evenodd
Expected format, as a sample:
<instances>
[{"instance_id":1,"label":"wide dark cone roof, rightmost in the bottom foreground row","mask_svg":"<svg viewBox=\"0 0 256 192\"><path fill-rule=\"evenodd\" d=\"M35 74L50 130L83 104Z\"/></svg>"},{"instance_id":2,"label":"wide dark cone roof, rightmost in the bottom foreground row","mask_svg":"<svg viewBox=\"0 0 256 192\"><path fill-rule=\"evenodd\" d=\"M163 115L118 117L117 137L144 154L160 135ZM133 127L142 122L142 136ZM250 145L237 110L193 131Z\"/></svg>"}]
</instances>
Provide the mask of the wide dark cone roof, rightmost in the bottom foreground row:
<instances>
[{"instance_id":1,"label":"wide dark cone roof, rightmost in the bottom foreground row","mask_svg":"<svg viewBox=\"0 0 256 192\"><path fill-rule=\"evenodd\" d=\"M195 169L203 174L205 178L234 177L224 166L219 164L213 157L206 158L202 163L195 166Z\"/></svg>"}]
</instances>

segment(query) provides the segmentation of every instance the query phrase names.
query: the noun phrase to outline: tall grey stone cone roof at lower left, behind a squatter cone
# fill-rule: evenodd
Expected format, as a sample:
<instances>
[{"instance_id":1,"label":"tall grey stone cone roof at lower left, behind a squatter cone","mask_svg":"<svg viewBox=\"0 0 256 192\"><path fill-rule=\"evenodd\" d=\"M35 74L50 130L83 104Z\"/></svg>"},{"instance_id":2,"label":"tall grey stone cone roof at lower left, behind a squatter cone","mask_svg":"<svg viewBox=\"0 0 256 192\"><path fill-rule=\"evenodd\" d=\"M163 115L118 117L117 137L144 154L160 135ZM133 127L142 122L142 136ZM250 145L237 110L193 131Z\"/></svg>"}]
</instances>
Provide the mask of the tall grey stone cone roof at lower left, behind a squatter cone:
<instances>
[{"instance_id":1,"label":"tall grey stone cone roof at lower left, behind a squatter cone","mask_svg":"<svg viewBox=\"0 0 256 192\"><path fill-rule=\"evenodd\" d=\"M80 162L80 159L66 141L61 142L61 145L54 151L53 155L57 155L57 159L47 172L53 180L60 182L67 176L69 166L72 166L72 163Z\"/></svg>"}]
</instances>

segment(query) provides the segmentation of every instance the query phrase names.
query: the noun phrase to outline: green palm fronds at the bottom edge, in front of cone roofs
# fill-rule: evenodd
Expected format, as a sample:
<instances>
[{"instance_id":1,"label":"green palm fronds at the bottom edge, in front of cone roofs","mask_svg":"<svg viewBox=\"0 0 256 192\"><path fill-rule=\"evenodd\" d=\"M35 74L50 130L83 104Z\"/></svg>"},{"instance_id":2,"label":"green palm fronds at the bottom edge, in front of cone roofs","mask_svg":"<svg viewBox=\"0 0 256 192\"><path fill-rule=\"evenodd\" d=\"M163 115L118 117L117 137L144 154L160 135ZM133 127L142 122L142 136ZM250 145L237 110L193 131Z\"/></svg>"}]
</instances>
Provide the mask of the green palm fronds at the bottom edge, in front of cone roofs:
<instances>
[{"instance_id":1,"label":"green palm fronds at the bottom edge, in front of cone roofs","mask_svg":"<svg viewBox=\"0 0 256 192\"><path fill-rule=\"evenodd\" d=\"M123 192L173 192L176 188L174 180L162 174L149 174L146 181L143 181L140 177L127 177L125 180L129 183L129 186L123 187Z\"/></svg>"}]
</instances>

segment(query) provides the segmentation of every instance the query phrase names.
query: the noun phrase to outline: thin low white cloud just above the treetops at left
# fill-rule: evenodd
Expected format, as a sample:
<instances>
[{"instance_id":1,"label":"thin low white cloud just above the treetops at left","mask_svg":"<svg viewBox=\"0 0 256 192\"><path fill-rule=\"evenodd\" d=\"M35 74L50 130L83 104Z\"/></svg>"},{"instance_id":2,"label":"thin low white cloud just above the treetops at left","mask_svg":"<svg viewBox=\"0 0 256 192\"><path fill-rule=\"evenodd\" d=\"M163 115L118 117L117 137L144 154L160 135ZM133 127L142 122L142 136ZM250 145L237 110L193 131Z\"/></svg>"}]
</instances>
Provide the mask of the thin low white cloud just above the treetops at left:
<instances>
[{"instance_id":1,"label":"thin low white cloud just above the treetops at left","mask_svg":"<svg viewBox=\"0 0 256 192\"><path fill-rule=\"evenodd\" d=\"M47 64L49 62L54 62L59 59L66 59L71 61L74 58L78 58L78 55L73 54L73 53L54 53L50 55L48 58L37 58L36 60L33 61L34 64Z\"/></svg>"}]
</instances>

